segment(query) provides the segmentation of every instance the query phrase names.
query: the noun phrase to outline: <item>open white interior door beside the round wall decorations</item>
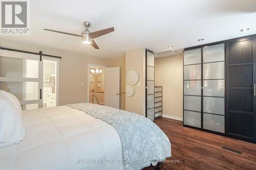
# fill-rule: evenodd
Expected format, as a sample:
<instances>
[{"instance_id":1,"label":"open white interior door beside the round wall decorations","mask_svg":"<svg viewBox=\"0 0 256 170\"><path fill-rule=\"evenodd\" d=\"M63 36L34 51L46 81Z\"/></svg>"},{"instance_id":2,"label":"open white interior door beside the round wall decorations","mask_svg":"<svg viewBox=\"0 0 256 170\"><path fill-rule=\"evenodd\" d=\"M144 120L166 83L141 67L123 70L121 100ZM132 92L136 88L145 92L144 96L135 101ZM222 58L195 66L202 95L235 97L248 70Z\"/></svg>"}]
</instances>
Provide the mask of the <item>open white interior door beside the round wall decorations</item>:
<instances>
[{"instance_id":1,"label":"open white interior door beside the round wall decorations","mask_svg":"<svg viewBox=\"0 0 256 170\"><path fill-rule=\"evenodd\" d=\"M120 67L104 68L104 105L120 108Z\"/></svg>"}]
</instances>

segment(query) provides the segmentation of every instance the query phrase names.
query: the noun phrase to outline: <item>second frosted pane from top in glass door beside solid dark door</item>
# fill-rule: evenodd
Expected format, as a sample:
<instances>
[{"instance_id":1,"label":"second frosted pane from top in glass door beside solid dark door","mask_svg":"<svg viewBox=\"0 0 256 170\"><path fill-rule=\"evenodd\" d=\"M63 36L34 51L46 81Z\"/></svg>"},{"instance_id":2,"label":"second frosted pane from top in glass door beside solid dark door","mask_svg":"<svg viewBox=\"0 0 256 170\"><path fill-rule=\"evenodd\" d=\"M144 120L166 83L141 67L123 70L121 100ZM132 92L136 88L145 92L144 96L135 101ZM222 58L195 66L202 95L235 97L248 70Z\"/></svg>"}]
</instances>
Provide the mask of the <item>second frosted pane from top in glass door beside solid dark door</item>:
<instances>
[{"instance_id":1,"label":"second frosted pane from top in glass door beside solid dark door","mask_svg":"<svg viewBox=\"0 0 256 170\"><path fill-rule=\"evenodd\" d=\"M204 79L224 79L225 78L225 62L203 64Z\"/></svg>"}]
</instances>

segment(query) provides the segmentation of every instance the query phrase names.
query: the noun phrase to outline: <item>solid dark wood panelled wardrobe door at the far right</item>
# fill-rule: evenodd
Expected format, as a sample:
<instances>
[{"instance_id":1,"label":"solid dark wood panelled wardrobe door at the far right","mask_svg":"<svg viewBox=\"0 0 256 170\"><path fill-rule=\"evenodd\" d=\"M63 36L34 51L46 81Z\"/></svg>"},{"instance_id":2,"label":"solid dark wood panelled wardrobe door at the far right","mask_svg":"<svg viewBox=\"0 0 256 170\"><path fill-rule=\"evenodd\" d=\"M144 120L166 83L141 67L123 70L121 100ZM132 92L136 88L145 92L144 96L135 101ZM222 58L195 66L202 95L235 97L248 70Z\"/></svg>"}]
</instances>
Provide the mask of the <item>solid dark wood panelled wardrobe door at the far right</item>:
<instances>
[{"instance_id":1,"label":"solid dark wood panelled wardrobe door at the far right","mask_svg":"<svg viewBox=\"0 0 256 170\"><path fill-rule=\"evenodd\" d=\"M256 37L227 42L227 135L256 141Z\"/></svg>"}]
</instances>

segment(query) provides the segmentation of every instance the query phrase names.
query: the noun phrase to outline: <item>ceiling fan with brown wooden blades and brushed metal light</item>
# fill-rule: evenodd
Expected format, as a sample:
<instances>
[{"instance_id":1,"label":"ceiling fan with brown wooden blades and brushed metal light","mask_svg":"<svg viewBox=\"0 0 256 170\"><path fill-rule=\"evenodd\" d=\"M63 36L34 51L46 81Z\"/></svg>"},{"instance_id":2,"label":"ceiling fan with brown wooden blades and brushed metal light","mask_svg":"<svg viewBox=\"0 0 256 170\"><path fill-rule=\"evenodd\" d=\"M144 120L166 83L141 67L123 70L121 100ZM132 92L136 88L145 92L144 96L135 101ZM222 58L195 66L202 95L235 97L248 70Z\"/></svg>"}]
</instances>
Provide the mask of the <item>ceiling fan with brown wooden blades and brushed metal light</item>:
<instances>
[{"instance_id":1,"label":"ceiling fan with brown wooden blades and brushed metal light","mask_svg":"<svg viewBox=\"0 0 256 170\"><path fill-rule=\"evenodd\" d=\"M99 47L95 43L95 41L93 40L94 38L97 38L97 37L100 37L102 35L105 35L105 34L108 34L108 33L111 33L113 31L115 31L114 27L111 27L111 28L108 28L108 29L99 30L99 31L95 31L95 32L90 33L88 28L91 26L91 22L84 21L83 25L84 25L84 27L86 27L86 29L84 31L82 31L81 35L66 33L66 32L61 32L61 31L55 31L55 30L50 30L50 29L44 29L44 30L55 32L55 33L60 33L60 34L67 34L67 35L72 35L72 36L76 36L76 37L81 37L82 42L84 44L92 45L96 49L99 49Z\"/></svg>"}]
</instances>

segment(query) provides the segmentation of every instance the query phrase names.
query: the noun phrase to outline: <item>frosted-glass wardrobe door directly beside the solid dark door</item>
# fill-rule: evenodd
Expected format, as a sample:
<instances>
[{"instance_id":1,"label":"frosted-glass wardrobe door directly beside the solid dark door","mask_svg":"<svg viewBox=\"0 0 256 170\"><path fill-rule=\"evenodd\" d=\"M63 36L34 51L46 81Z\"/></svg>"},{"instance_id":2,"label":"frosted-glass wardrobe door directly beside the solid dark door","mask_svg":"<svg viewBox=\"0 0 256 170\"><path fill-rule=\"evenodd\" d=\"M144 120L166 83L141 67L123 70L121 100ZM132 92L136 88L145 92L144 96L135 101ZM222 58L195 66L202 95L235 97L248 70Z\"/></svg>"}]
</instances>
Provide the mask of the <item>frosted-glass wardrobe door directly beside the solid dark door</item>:
<instances>
[{"instance_id":1,"label":"frosted-glass wardrobe door directly beside the solid dark door","mask_svg":"<svg viewBox=\"0 0 256 170\"><path fill-rule=\"evenodd\" d=\"M225 133L225 44L203 47L203 129Z\"/></svg>"}]
</instances>

